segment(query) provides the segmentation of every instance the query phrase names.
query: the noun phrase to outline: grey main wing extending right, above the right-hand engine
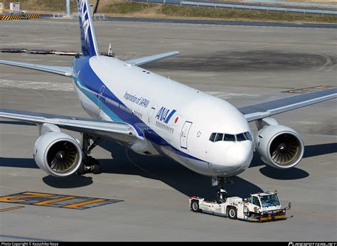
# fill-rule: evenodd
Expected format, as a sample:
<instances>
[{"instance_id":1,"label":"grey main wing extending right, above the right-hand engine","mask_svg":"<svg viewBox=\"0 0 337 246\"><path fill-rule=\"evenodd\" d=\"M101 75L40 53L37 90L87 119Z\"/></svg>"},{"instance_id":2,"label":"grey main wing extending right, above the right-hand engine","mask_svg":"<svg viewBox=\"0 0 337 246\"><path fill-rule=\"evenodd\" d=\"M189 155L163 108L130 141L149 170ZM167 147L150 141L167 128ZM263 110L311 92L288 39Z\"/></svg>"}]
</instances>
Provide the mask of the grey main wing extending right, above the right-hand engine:
<instances>
[{"instance_id":1,"label":"grey main wing extending right, above the right-hand engine","mask_svg":"<svg viewBox=\"0 0 337 246\"><path fill-rule=\"evenodd\" d=\"M269 117L274 114L287 112L308 105L314 105L315 103L331 100L333 98L337 98L337 88L284 97L268 102L260 102L256 105L240 107L238 109L244 114L248 122L252 122L257 119L263 119L264 117Z\"/></svg>"}]
</instances>

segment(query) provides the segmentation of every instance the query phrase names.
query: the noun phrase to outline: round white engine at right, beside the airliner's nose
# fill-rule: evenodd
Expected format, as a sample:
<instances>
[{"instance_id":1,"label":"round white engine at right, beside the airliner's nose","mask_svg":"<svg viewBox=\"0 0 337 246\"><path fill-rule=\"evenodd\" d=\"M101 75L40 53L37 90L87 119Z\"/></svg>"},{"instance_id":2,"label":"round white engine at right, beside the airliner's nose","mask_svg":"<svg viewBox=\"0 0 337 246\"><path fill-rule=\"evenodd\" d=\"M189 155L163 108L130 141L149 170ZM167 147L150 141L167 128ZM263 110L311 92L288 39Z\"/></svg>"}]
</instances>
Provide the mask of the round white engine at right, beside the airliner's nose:
<instances>
[{"instance_id":1,"label":"round white engine at right, beside the airliner's nose","mask_svg":"<svg viewBox=\"0 0 337 246\"><path fill-rule=\"evenodd\" d=\"M299 134L279 124L260 129L255 144L262 161L277 169L296 166L304 154L304 143Z\"/></svg>"}]
</instances>

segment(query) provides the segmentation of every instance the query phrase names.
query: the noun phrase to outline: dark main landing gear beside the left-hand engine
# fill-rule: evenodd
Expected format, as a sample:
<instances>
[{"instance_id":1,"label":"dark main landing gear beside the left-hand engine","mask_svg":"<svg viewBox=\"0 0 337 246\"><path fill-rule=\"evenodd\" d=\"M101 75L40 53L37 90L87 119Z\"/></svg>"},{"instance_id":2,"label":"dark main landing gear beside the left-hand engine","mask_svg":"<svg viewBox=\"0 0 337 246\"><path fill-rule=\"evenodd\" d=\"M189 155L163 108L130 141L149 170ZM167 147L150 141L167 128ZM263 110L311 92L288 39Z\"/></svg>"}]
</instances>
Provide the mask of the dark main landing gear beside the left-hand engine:
<instances>
[{"instance_id":1,"label":"dark main landing gear beside the left-hand engine","mask_svg":"<svg viewBox=\"0 0 337 246\"><path fill-rule=\"evenodd\" d=\"M93 140L92 144L90 145L90 139ZM89 156L92 149L94 149L102 139L98 137L97 139L93 139L89 134L83 133L82 134L82 164L80 168L77 170L78 175L82 175L85 173L100 173L100 165L98 161Z\"/></svg>"}]
</instances>

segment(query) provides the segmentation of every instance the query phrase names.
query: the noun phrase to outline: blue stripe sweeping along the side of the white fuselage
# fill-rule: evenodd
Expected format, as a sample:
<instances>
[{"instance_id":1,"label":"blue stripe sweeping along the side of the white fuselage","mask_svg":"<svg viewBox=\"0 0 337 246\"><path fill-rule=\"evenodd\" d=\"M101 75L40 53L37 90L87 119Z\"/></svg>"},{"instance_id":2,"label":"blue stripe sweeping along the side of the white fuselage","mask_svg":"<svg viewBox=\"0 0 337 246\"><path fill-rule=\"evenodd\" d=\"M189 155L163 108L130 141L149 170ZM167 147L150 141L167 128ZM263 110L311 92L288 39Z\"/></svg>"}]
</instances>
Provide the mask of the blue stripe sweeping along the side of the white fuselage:
<instances>
[{"instance_id":1,"label":"blue stripe sweeping along the side of the white fuselage","mask_svg":"<svg viewBox=\"0 0 337 246\"><path fill-rule=\"evenodd\" d=\"M110 100L113 100L114 102L117 102L122 107L128 108L126 105L124 105L122 101L118 99L118 97L116 97L116 95L114 95L114 93L112 93L112 91L109 90L107 85L105 85L102 82L102 80L100 80L100 78L95 74L95 72L90 67L89 60L90 57L75 58L73 65L74 80L78 82L80 85L82 85L82 87L86 87L87 89L96 92L97 95L100 93L101 87L105 86L103 98L106 97ZM92 100L92 102L94 102L95 105L98 106L97 97L90 94L89 92L86 92L85 90L81 91L84 92L84 94L88 98L90 98L90 100ZM171 146L165 139L160 137L159 134L157 134L153 129L151 129L148 125L146 125L143 121L141 121L141 119L139 119L136 115L125 111L124 109L122 109L121 106L116 107L115 105L105 102L105 100L101 100L101 102L103 111L112 119L112 121L126 122L128 124L131 124L134 127L134 129L136 129L140 137L145 137L146 139L149 139L149 141L152 141L159 146L166 146L171 151L175 152L180 156L195 159L198 161L203 161ZM169 114L168 118L171 118L175 112L176 110L173 110L171 114Z\"/></svg>"}]
</instances>

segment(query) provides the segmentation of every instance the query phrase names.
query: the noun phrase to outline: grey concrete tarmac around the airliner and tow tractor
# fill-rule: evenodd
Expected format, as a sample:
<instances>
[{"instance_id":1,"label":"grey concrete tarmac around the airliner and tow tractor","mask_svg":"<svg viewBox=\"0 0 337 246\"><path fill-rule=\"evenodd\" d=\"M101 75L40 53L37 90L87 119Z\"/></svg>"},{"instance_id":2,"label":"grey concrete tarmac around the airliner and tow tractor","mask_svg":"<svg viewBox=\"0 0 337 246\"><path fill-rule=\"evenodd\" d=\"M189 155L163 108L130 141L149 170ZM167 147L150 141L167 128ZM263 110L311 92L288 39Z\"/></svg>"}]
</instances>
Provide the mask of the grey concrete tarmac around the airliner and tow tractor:
<instances>
[{"instance_id":1,"label":"grey concrete tarmac around the airliner and tow tractor","mask_svg":"<svg viewBox=\"0 0 337 246\"><path fill-rule=\"evenodd\" d=\"M3 21L0 27L1 47L80 50L77 21ZM112 43L122 60L181 51L146 68L237 107L292 95L288 90L337 87L333 29L123 21L95 21L95 28L100 50ZM73 60L13 53L0 53L0 59L61 66ZM0 88L0 107L88 117L68 77L0 65ZM274 117L304 139L298 166L273 169L255 155L235 185L226 187L230 196L242 197L277 190L282 205L292 206L287 220L271 223L193 213L188 196L215 196L210 178L112 142L92 151L101 174L48 176L32 157L37 127L0 124L0 241L336 241L336 102ZM4 196L28 191L118 202L87 209L4 202Z\"/></svg>"}]
</instances>

